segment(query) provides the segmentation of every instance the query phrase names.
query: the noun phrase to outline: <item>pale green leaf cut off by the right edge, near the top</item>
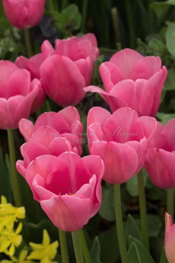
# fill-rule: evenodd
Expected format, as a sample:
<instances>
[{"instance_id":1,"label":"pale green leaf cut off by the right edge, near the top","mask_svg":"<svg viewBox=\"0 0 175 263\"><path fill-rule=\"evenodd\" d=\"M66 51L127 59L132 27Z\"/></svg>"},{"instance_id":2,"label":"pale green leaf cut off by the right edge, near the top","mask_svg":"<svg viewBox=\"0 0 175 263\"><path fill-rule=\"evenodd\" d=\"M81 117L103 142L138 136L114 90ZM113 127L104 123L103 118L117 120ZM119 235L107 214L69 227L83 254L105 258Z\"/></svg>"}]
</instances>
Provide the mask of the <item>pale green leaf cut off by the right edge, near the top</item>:
<instances>
[{"instance_id":1,"label":"pale green leaf cut off by the right edge, near the top","mask_svg":"<svg viewBox=\"0 0 175 263\"><path fill-rule=\"evenodd\" d=\"M170 54L175 57L175 23L167 21L166 47Z\"/></svg>"}]
</instances>

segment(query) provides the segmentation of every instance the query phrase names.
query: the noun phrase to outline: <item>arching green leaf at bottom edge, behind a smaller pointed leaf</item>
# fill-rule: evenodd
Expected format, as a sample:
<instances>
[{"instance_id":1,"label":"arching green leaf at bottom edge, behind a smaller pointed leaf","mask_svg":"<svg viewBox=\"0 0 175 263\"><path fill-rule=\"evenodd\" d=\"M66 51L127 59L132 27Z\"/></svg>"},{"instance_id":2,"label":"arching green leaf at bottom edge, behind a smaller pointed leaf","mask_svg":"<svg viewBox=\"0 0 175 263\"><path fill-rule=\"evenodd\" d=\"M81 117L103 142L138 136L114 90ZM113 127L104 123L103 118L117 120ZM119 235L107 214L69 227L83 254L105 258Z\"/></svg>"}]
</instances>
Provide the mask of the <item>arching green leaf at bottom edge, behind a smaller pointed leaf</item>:
<instances>
[{"instance_id":1,"label":"arching green leaf at bottom edge, behind a smaller pointed leaf","mask_svg":"<svg viewBox=\"0 0 175 263\"><path fill-rule=\"evenodd\" d=\"M137 238L129 236L129 244L132 243L135 243L135 245L137 246L142 263L155 263L144 244L142 244L142 242L140 242Z\"/></svg>"}]
</instances>

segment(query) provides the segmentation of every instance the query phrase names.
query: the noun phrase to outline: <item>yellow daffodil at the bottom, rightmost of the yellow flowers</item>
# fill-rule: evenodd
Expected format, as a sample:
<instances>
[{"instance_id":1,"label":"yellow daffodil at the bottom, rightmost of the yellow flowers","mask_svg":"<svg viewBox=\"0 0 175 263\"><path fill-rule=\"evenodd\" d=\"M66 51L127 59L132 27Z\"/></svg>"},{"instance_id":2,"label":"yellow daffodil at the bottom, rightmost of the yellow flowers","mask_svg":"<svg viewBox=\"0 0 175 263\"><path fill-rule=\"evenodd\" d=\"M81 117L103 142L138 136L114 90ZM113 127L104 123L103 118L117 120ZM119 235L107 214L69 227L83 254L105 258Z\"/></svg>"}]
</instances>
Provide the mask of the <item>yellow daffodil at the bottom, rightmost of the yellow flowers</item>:
<instances>
[{"instance_id":1,"label":"yellow daffodil at the bottom, rightmost of the yellow flowers","mask_svg":"<svg viewBox=\"0 0 175 263\"><path fill-rule=\"evenodd\" d=\"M58 241L50 244L50 237L46 229L43 231L42 244L36 244L30 242L29 245L32 247L33 251L27 257L28 260L35 259L41 260L42 263L50 263L55 258L57 253L57 247L59 245Z\"/></svg>"}]
</instances>

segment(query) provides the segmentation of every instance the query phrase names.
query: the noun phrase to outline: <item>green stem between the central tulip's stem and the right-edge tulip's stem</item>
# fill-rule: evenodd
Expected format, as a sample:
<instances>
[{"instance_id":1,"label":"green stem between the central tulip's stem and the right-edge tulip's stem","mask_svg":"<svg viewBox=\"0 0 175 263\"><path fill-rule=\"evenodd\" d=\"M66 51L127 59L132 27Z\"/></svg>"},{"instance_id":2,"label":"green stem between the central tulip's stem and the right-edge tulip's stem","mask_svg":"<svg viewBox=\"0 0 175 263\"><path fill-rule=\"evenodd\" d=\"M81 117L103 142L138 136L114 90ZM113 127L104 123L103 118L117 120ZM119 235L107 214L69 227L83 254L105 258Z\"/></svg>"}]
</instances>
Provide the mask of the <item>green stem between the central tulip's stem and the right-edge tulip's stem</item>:
<instances>
[{"instance_id":1,"label":"green stem between the central tulip's stem and the right-edge tulip's stem","mask_svg":"<svg viewBox=\"0 0 175 263\"><path fill-rule=\"evenodd\" d=\"M142 170L137 174L137 181L139 188L139 207L140 207L140 220L142 227L142 238L145 247L149 250L148 225L147 225L147 216L146 216L146 196L145 196Z\"/></svg>"}]
</instances>

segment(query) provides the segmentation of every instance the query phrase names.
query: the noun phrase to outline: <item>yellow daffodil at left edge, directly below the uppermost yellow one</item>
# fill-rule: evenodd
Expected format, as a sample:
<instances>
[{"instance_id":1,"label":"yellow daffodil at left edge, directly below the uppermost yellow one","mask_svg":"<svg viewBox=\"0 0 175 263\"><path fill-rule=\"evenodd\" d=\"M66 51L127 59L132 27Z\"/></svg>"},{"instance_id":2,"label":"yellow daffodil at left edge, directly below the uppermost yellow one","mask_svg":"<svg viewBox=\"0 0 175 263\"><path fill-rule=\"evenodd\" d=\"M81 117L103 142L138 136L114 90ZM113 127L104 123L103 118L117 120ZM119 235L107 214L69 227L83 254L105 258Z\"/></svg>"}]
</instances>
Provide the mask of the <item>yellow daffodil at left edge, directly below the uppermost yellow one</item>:
<instances>
[{"instance_id":1,"label":"yellow daffodil at left edge, directly below the uppermost yellow one","mask_svg":"<svg viewBox=\"0 0 175 263\"><path fill-rule=\"evenodd\" d=\"M18 235L23 228L23 224L19 223L16 231L3 230L0 237L0 253L4 252L6 255L13 256L15 247L19 247L23 237ZM8 250L9 248L9 250Z\"/></svg>"}]
</instances>

